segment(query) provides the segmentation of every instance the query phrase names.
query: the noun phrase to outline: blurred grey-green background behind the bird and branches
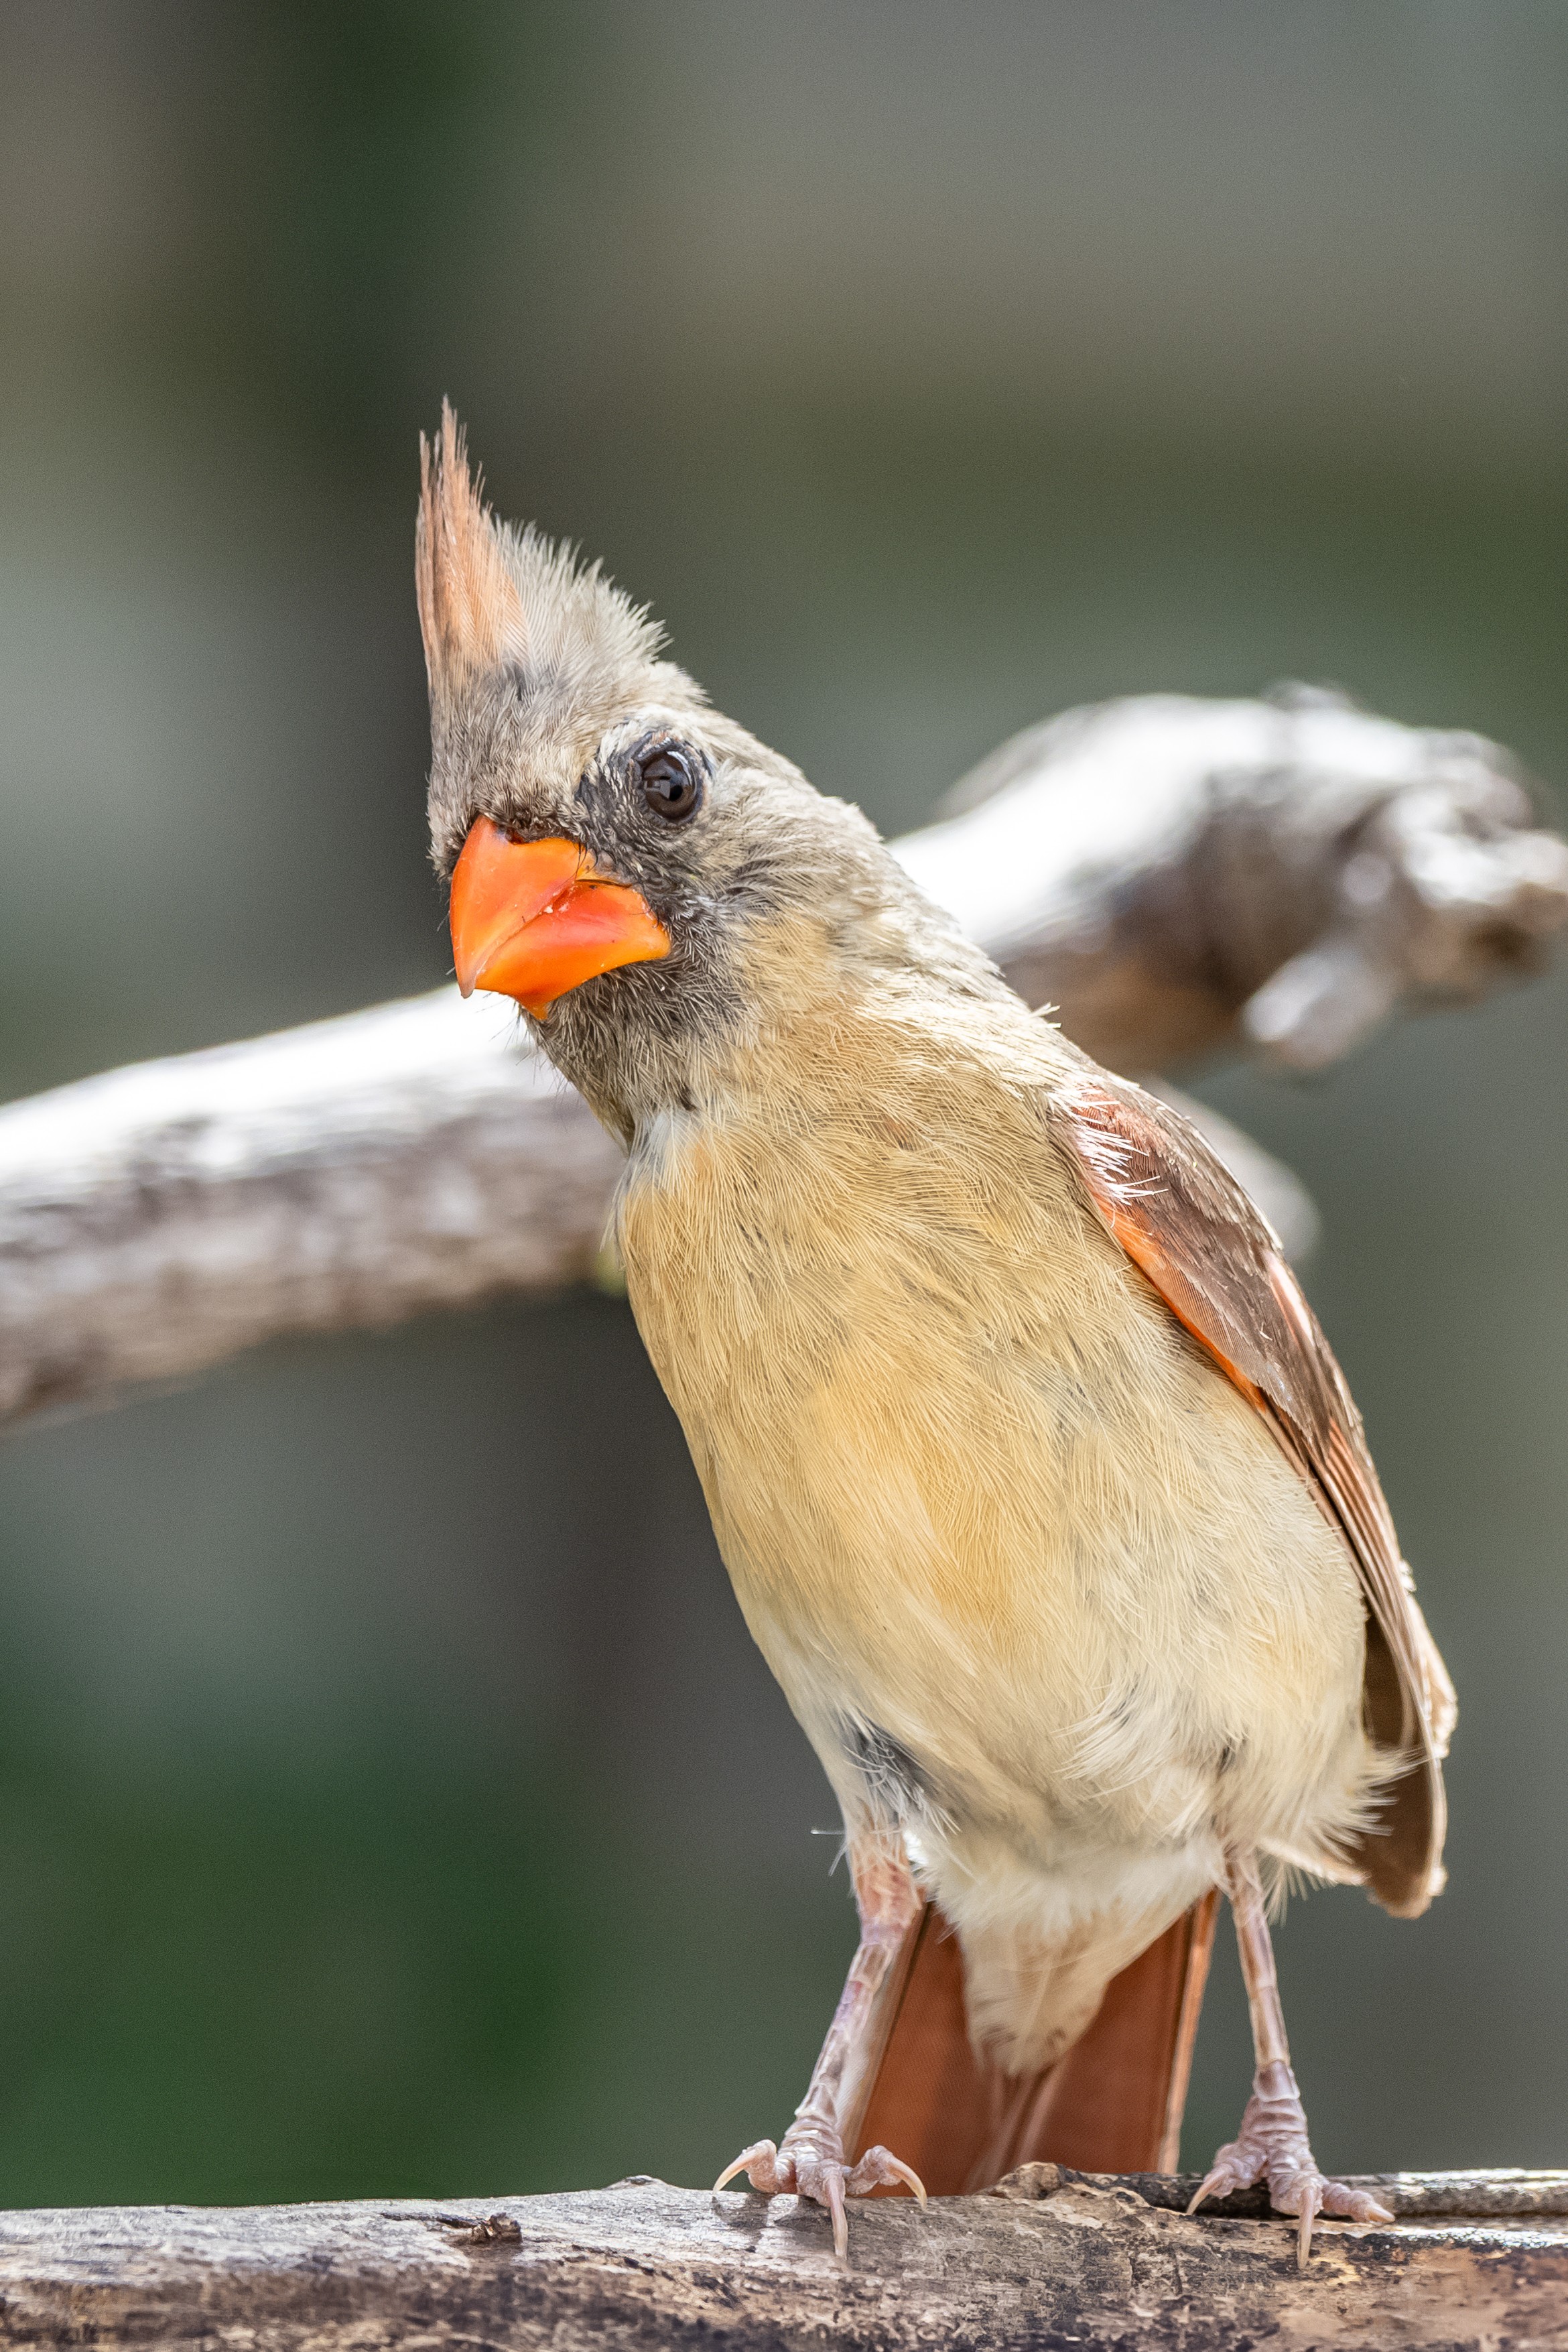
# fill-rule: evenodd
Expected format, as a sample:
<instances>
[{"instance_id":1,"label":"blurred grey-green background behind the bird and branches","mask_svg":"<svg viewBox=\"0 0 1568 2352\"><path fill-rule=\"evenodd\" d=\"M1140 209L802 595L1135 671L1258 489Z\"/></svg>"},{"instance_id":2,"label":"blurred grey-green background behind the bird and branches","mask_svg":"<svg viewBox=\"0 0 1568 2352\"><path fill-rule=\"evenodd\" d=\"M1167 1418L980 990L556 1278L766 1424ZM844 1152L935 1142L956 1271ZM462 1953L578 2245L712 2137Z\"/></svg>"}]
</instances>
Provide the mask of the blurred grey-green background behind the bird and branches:
<instances>
[{"instance_id":1,"label":"blurred grey-green background behind the bird and branches","mask_svg":"<svg viewBox=\"0 0 1568 2352\"><path fill-rule=\"evenodd\" d=\"M886 828L1072 701L1340 680L1568 776L1556 0L0 19L0 1091L433 985L414 437ZM1561 807L1559 807L1561 814ZM1561 981L1201 1080L1462 1693L1453 1884L1293 1905L1319 2157L1568 2161ZM625 1310L0 1454L0 2199L712 2178L853 1943ZM1251 2070L1229 1936L1190 2157Z\"/></svg>"}]
</instances>

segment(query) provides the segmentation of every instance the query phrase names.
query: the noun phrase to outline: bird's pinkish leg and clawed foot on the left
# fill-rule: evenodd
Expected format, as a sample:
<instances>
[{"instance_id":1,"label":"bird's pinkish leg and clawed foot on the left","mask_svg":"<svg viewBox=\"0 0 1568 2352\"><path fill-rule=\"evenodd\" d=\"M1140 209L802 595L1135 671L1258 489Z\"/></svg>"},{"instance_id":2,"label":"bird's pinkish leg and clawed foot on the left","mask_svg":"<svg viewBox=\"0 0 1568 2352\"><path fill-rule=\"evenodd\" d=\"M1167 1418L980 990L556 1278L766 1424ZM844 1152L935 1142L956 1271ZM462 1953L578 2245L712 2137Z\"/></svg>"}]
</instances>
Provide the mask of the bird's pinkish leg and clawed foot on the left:
<instances>
[{"instance_id":1,"label":"bird's pinkish leg and clawed foot on the left","mask_svg":"<svg viewBox=\"0 0 1568 2352\"><path fill-rule=\"evenodd\" d=\"M851 1837L849 1867L860 1912L860 1945L849 1964L849 1978L832 2013L811 2084L783 2145L757 2140L733 2164L726 2164L715 2190L745 2173L766 2197L795 2192L825 2204L832 2216L835 2253L849 2253L846 2197L903 2180L926 2201L926 2190L907 2164L886 2147L867 2147L858 2164L844 2164L844 2136L863 2112L872 2067L886 2037L886 2004L896 1992L900 1962L919 1924L922 1898L910 1877L903 1846L882 1837Z\"/></svg>"}]
</instances>

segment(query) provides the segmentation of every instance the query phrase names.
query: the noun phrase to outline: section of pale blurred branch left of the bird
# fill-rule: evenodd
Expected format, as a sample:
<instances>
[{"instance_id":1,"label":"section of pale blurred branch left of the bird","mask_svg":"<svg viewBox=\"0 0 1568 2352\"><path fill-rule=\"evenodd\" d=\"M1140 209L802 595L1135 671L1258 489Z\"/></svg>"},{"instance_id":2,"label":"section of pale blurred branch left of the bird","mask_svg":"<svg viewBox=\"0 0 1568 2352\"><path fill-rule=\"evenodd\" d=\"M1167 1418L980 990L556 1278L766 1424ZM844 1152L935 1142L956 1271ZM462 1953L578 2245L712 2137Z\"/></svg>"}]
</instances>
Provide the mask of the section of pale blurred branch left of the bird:
<instances>
[{"instance_id":1,"label":"section of pale blurred branch left of the bird","mask_svg":"<svg viewBox=\"0 0 1568 2352\"><path fill-rule=\"evenodd\" d=\"M621 1155L456 988L0 1112L0 1418L583 1277Z\"/></svg>"}]
</instances>

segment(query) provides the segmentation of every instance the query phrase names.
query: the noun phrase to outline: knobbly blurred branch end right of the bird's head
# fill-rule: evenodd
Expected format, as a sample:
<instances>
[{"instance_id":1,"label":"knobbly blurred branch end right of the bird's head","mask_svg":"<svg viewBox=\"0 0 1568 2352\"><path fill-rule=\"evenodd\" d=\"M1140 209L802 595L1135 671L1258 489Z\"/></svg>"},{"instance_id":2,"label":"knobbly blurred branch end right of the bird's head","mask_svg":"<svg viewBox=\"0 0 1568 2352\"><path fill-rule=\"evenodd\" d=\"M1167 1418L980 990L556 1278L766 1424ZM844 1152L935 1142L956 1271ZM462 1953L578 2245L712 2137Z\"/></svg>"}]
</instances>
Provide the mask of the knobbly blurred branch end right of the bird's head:
<instances>
[{"instance_id":1,"label":"knobbly blurred branch end right of the bird's head","mask_svg":"<svg viewBox=\"0 0 1568 2352\"><path fill-rule=\"evenodd\" d=\"M1067 710L896 844L1032 1004L1117 1070L1338 1061L1396 1007L1540 971L1568 847L1483 736L1279 687Z\"/></svg>"}]
</instances>

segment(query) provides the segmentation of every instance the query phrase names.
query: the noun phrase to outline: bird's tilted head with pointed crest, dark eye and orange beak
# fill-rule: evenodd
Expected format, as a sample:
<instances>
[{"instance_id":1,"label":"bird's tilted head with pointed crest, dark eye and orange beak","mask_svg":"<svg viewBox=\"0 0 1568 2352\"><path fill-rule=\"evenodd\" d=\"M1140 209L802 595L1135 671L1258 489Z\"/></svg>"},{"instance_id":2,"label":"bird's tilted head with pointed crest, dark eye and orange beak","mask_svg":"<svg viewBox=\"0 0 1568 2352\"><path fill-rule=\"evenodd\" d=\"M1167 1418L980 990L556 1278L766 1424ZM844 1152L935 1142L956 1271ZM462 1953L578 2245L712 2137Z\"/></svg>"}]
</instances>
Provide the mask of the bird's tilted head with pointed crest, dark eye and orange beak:
<instances>
[{"instance_id":1,"label":"bird's tilted head with pointed crest, dark eye and orange beak","mask_svg":"<svg viewBox=\"0 0 1568 2352\"><path fill-rule=\"evenodd\" d=\"M849 967L947 936L865 816L712 710L597 564L491 515L449 407L416 579L458 985L515 997L623 1134Z\"/></svg>"}]
</instances>

